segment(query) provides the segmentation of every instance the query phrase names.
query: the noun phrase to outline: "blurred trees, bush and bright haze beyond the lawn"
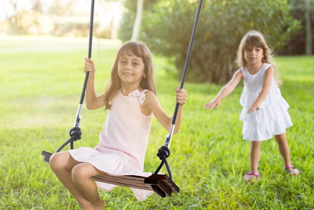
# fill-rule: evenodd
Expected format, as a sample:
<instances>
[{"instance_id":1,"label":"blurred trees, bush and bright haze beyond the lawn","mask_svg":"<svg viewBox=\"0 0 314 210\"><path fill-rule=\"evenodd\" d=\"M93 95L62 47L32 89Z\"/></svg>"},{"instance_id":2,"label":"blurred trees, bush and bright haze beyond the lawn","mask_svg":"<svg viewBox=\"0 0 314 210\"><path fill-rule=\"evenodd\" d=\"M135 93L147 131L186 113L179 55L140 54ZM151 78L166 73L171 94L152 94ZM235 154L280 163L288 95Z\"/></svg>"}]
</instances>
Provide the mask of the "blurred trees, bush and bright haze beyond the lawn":
<instances>
[{"instance_id":1,"label":"blurred trees, bush and bright haze beyond the lawn","mask_svg":"<svg viewBox=\"0 0 314 210\"><path fill-rule=\"evenodd\" d=\"M181 71L196 3L196 0L95 1L93 35L122 42L143 40L155 54L169 58ZM17 35L17 41L22 35L86 37L89 8L87 0L1 0L0 37L3 41ZM276 55L311 55L313 11L313 0L205 1L188 80L219 83L230 79L237 68L234 59L238 44L251 29L265 34ZM21 47L19 50L26 50L27 43Z\"/></svg>"}]
</instances>

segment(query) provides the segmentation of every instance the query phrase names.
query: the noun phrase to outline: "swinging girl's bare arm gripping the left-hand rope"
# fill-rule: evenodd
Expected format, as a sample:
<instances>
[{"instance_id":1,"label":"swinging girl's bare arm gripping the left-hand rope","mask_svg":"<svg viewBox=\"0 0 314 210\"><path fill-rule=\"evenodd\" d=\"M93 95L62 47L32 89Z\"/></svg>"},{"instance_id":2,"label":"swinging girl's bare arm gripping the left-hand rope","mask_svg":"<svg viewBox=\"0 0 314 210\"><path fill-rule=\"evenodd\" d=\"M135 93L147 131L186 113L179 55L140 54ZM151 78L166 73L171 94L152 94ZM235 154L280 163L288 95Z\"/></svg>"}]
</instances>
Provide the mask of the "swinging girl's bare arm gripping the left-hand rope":
<instances>
[{"instance_id":1,"label":"swinging girl's bare arm gripping the left-hand rope","mask_svg":"<svg viewBox=\"0 0 314 210\"><path fill-rule=\"evenodd\" d=\"M92 59L85 58L85 64L83 67L84 72L89 71L87 86L86 86L86 108L97 109L104 105L103 94L97 96L95 90L95 64Z\"/></svg>"}]
</instances>

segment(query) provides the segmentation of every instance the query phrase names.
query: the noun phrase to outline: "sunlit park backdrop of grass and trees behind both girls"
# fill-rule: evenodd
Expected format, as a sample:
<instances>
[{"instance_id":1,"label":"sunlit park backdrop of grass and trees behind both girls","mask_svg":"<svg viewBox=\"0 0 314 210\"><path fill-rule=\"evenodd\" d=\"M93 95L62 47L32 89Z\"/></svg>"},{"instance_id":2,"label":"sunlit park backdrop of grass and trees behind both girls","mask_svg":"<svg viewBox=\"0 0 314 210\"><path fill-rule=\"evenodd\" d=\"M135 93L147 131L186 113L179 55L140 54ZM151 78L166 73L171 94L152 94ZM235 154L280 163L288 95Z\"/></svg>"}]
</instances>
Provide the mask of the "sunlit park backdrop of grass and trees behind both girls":
<instances>
[{"instance_id":1,"label":"sunlit park backdrop of grass and trees behind both girls","mask_svg":"<svg viewBox=\"0 0 314 210\"><path fill-rule=\"evenodd\" d=\"M0 209L81 209L40 155L69 137L88 55L87 0L0 0ZM95 89L106 88L118 48L142 40L153 52L157 97L171 116L198 0L95 0L92 59ZM240 84L218 110L204 110L236 71L236 50L249 30L264 34L275 55L294 125L287 129L288 177L276 142L265 141L259 172L248 186L250 144L239 121ZM168 162L180 193L137 201L132 192L100 191L106 209L313 209L314 0L204 0L184 88L188 91L180 132ZM82 139L95 147L106 113L81 115ZM153 118L145 171L159 165L168 134ZM69 149L67 146L64 150ZM166 173L164 168L162 173Z\"/></svg>"}]
</instances>

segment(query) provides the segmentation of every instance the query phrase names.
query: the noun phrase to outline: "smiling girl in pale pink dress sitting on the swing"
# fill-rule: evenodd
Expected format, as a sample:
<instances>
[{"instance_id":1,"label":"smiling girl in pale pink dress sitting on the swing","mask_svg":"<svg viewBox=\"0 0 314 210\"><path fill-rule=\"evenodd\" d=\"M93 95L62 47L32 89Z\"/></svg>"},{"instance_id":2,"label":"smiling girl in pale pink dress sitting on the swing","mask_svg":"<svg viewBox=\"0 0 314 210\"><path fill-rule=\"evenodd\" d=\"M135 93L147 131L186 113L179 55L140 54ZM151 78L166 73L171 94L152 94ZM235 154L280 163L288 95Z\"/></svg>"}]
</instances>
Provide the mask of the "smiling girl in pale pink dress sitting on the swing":
<instances>
[{"instance_id":1,"label":"smiling girl in pale pink dress sitting on the swing","mask_svg":"<svg viewBox=\"0 0 314 210\"><path fill-rule=\"evenodd\" d=\"M170 130L172 117L160 107L156 98L151 52L143 42L127 42L119 49L111 70L111 81L105 92L97 96L95 91L95 65L85 58L84 72L89 71L86 87L86 108L105 106L108 114L95 148L81 147L55 153L50 158L52 171L70 191L83 209L103 209L97 186L92 176L101 174L138 175L143 172L149 131L153 114L160 124ZM177 133L182 117L182 105L187 91L175 88L179 110L174 133ZM116 185L97 182L101 190L111 191ZM152 191L130 188L135 197L143 201Z\"/></svg>"}]
</instances>

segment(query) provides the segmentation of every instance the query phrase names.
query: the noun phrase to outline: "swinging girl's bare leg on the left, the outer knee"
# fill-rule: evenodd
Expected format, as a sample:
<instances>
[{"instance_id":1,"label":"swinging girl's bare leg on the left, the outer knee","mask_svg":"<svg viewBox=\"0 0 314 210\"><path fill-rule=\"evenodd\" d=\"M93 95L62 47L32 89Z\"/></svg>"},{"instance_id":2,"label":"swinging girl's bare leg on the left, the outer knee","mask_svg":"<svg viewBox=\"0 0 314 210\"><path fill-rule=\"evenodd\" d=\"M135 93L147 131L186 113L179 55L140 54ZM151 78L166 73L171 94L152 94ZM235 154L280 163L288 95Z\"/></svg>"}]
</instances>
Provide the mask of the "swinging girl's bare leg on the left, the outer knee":
<instances>
[{"instance_id":1,"label":"swinging girl's bare leg on the left, the outer knee","mask_svg":"<svg viewBox=\"0 0 314 210\"><path fill-rule=\"evenodd\" d=\"M81 190L74 184L71 176L71 170L77 164L68 151L58 152L50 157L50 167L57 175L62 184L70 191L73 197L83 207L83 209L93 209L92 203L84 196Z\"/></svg>"}]
</instances>

